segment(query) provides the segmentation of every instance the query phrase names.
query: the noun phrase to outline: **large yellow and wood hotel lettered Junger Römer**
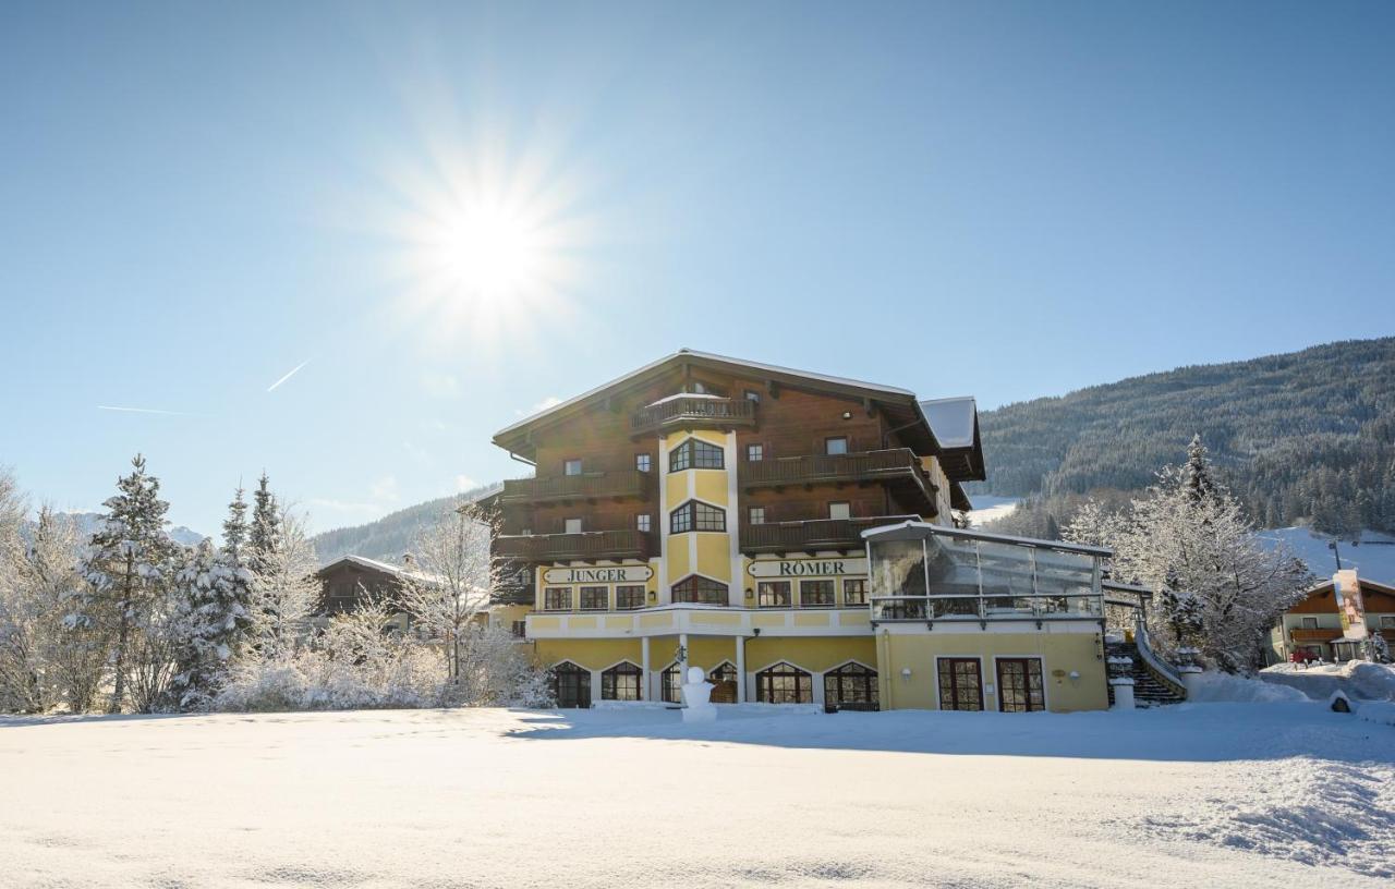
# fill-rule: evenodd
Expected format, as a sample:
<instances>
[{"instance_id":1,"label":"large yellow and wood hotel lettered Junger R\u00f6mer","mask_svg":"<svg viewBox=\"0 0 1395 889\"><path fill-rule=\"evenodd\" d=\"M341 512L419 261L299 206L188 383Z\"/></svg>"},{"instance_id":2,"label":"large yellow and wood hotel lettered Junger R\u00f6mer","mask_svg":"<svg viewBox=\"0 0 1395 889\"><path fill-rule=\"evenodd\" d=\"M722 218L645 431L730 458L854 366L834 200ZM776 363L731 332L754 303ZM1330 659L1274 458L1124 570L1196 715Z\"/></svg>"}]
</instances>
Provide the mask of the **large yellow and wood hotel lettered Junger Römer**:
<instances>
[{"instance_id":1,"label":"large yellow and wood hotel lettered Junger R\u00f6mer","mask_svg":"<svg viewBox=\"0 0 1395 889\"><path fill-rule=\"evenodd\" d=\"M679 351L518 422L491 497L558 702L1108 704L1105 550L953 527L972 399Z\"/></svg>"}]
</instances>

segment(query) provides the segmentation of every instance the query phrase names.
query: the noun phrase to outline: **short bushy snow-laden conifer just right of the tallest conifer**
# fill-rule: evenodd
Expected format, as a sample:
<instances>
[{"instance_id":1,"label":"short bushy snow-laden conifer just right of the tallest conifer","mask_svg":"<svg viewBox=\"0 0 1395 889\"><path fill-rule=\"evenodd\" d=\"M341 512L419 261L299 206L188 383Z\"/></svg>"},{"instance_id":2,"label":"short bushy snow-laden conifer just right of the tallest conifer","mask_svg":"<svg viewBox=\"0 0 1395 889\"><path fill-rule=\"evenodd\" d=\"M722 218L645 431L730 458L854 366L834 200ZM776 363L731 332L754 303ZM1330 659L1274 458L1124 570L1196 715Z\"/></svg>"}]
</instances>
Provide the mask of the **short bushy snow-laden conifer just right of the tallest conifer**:
<instances>
[{"instance_id":1,"label":"short bushy snow-laden conifer just right of the tallest conifer","mask_svg":"<svg viewBox=\"0 0 1395 889\"><path fill-rule=\"evenodd\" d=\"M251 627L252 574L237 564L230 549L219 552L204 541L186 550L174 580L180 591L174 704L184 711L205 709Z\"/></svg>"}]
</instances>

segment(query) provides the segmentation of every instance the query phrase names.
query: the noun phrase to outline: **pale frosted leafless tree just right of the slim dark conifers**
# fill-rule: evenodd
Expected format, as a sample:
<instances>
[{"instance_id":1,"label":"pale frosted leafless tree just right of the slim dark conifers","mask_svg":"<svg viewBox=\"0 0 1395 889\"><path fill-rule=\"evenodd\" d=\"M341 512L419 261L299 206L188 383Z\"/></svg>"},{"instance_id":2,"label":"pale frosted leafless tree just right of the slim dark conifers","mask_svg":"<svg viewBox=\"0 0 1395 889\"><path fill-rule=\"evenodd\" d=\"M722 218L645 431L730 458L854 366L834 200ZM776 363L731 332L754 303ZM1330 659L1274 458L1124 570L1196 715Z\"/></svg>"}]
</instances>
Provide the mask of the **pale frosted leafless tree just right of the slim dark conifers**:
<instances>
[{"instance_id":1,"label":"pale frosted leafless tree just right of the slim dark conifers","mask_svg":"<svg viewBox=\"0 0 1395 889\"><path fill-rule=\"evenodd\" d=\"M258 523L252 523L255 553ZM308 628L310 616L319 602L315 571L319 560L306 534L304 520L282 509L275 521L278 542L259 556L251 573L251 631L248 641L265 660L289 656Z\"/></svg>"}]
</instances>

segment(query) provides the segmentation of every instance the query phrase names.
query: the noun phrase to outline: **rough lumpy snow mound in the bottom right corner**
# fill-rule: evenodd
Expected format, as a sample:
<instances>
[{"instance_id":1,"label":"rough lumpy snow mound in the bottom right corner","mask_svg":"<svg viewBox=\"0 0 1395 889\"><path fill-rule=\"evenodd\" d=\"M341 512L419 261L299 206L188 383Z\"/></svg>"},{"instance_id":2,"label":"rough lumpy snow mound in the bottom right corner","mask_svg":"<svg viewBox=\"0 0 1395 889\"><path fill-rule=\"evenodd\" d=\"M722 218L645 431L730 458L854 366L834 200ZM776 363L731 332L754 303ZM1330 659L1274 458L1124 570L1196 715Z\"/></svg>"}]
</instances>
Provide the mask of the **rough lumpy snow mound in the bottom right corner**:
<instances>
[{"instance_id":1,"label":"rough lumpy snow mound in the bottom right corner","mask_svg":"<svg viewBox=\"0 0 1395 889\"><path fill-rule=\"evenodd\" d=\"M1149 817L1149 833L1395 876L1395 766L1310 758L1251 762L1194 808ZM1239 778L1240 780L1236 780ZM1212 789L1214 790L1214 789Z\"/></svg>"}]
</instances>

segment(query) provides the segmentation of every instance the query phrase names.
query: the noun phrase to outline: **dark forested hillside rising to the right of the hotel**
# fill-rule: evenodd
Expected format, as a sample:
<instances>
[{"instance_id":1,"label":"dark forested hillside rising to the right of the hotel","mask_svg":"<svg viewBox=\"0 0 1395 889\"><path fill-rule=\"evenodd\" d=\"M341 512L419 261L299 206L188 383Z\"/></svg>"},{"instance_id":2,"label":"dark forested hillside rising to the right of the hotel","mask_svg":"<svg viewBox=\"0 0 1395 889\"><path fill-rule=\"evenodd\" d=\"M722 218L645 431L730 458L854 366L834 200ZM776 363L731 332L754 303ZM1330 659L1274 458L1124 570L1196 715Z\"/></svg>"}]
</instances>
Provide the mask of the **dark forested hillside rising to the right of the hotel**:
<instances>
[{"instance_id":1,"label":"dark forested hillside rising to the right of the hotel","mask_svg":"<svg viewBox=\"0 0 1395 889\"><path fill-rule=\"evenodd\" d=\"M1395 337L1179 368L981 417L972 492L1133 492L1200 433L1256 521L1395 531Z\"/></svg>"}]
</instances>

